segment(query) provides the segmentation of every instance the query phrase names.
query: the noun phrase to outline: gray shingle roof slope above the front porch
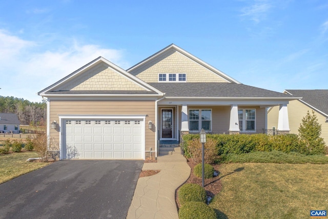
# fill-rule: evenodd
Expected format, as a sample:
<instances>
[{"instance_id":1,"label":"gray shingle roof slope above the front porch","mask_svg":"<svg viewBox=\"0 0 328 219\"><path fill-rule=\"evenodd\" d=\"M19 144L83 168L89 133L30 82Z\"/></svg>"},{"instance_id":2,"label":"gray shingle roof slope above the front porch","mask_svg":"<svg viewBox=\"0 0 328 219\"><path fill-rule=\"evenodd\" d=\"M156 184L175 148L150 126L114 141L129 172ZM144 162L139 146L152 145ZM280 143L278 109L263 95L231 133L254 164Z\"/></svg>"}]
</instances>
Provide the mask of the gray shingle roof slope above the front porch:
<instances>
[{"instance_id":1,"label":"gray shingle roof slope above the front porch","mask_svg":"<svg viewBox=\"0 0 328 219\"><path fill-rule=\"evenodd\" d=\"M167 97L292 97L276 91L235 83L149 83Z\"/></svg>"}]
</instances>

